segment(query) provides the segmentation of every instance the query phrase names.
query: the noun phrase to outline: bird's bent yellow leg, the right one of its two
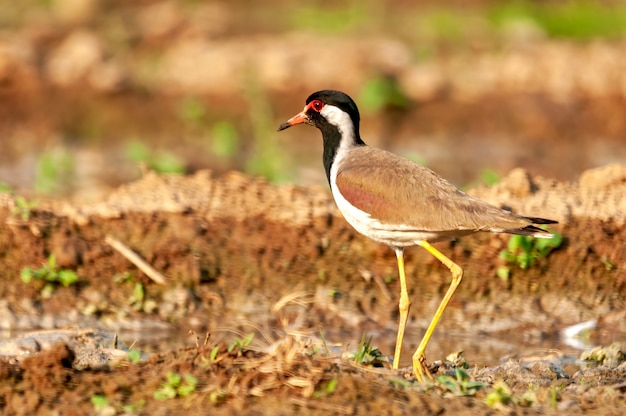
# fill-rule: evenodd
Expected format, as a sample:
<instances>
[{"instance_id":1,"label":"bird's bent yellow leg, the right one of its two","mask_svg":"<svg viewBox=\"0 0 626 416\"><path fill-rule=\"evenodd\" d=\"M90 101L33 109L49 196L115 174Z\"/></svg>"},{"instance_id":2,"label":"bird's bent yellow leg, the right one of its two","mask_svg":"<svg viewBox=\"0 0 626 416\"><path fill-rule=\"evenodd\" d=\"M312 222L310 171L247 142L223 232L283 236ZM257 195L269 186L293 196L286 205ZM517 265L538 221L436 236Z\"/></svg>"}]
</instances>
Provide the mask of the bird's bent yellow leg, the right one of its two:
<instances>
[{"instance_id":1,"label":"bird's bent yellow leg, the right one of its two","mask_svg":"<svg viewBox=\"0 0 626 416\"><path fill-rule=\"evenodd\" d=\"M437 326L441 315L443 315L443 311L446 309L446 306L448 306L448 302L450 302L454 291L456 290L457 286L459 286L459 283L461 283L461 279L463 278L463 269L461 269L458 264L447 258L435 247L431 246L427 241L422 241L420 245L424 247L430 254L435 256L440 262L445 264L452 273L452 283L450 284L450 288L448 289L446 295L443 297L441 303L439 304L437 312L435 312L435 316L430 322L430 325L428 326L428 329L424 334L424 338L422 338L422 342L420 342L420 345L417 347L415 353L413 354L413 371L415 372L415 377L418 381L423 381L424 374L426 374L429 378L433 377L428 370L428 366L426 365L426 344L428 344L428 341L430 341L430 337L433 335L435 327Z\"/></svg>"}]
</instances>

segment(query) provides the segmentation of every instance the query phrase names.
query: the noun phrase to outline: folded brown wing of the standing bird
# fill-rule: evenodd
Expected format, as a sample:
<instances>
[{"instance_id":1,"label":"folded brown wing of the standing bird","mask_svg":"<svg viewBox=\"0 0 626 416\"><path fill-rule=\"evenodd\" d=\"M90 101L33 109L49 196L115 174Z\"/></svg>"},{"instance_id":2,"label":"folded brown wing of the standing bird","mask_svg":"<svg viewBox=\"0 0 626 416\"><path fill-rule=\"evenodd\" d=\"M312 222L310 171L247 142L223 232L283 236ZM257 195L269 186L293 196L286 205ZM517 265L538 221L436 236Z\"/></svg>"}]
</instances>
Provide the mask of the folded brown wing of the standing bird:
<instances>
[{"instance_id":1,"label":"folded brown wing of the standing bird","mask_svg":"<svg viewBox=\"0 0 626 416\"><path fill-rule=\"evenodd\" d=\"M389 224L417 231L505 231L531 224L457 189L432 170L393 153L353 149L337 187L352 205Z\"/></svg>"}]
</instances>

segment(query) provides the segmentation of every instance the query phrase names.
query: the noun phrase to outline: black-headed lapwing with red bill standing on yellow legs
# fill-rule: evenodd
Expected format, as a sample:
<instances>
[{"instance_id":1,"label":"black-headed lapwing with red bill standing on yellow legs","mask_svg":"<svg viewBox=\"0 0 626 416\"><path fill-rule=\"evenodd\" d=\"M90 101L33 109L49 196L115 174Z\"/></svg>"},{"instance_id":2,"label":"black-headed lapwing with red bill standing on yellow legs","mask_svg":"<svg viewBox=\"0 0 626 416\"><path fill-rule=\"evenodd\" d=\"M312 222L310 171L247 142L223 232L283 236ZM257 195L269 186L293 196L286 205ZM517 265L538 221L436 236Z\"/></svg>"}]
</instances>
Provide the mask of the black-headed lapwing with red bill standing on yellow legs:
<instances>
[{"instance_id":1,"label":"black-headed lapwing with red bill standing on yellow legs","mask_svg":"<svg viewBox=\"0 0 626 416\"><path fill-rule=\"evenodd\" d=\"M326 177L346 221L359 233L395 251L400 298L393 369L398 369L411 306L404 270L405 248L421 246L450 270L451 284L412 356L416 380L433 379L426 362L426 346L463 278L463 269L431 244L476 232L551 238L553 234L538 225L556 221L501 209L466 194L425 166L366 145L359 132L357 105L341 91L311 94L304 109L280 124L278 131L298 124L315 126L322 133Z\"/></svg>"}]
</instances>

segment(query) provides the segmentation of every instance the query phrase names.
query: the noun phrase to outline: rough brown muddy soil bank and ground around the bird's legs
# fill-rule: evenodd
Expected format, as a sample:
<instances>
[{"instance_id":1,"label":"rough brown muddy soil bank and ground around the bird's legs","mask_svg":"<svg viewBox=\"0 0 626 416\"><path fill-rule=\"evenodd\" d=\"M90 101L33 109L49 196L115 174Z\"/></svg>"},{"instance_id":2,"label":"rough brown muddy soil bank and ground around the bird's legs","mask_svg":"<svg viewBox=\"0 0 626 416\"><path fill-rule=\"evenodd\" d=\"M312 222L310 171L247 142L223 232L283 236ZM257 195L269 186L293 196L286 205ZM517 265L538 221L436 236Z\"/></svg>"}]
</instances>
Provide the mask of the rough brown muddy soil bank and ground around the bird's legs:
<instances>
[{"instance_id":1,"label":"rough brown muddy soil bank and ground around the bird's legs","mask_svg":"<svg viewBox=\"0 0 626 416\"><path fill-rule=\"evenodd\" d=\"M506 357L466 351L469 377L485 383L475 392L469 381L417 383L408 367L449 284L448 272L418 248L407 257L413 305L406 367L390 369L399 293L394 255L352 230L325 188L274 186L236 172L148 173L105 200L42 201L28 215L3 194L6 338L78 325L119 334L145 355L95 368L77 365L70 342L38 345L38 354L18 351L0 362L0 408L72 415L620 414L626 364L619 347L599 366L583 365L580 351L548 348L566 327L592 320L588 348L626 340L626 167L585 172L572 183L516 170L493 188L470 192L559 220L553 230L564 236L549 256L505 280L496 269L506 236L438 244L466 274L427 351L439 363L435 376L454 375L446 356L476 340L516 340ZM107 236L162 273L164 284ZM51 254L79 280L44 296L43 282L26 284L20 273ZM169 343L155 341L164 333ZM361 334L380 356L370 351L376 359L358 364ZM545 348L529 350L525 342ZM175 384L169 373L188 389L175 387L163 398Z\"/></svg>"}]
</instances>

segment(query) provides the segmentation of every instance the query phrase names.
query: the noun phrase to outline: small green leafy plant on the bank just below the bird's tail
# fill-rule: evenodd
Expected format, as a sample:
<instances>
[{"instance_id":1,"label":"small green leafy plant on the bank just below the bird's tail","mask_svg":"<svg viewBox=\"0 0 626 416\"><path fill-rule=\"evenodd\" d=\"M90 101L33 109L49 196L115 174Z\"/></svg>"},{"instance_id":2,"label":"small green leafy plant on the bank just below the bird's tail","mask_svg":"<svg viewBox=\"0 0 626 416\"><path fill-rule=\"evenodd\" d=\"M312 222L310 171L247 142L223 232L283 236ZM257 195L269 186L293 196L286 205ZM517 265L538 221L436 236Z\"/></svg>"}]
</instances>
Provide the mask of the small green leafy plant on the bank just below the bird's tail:
<instances>
[{"instance_id":1,"label":"small green leafy plant on the bank just below the bird's tail","mask_svg":"<svg viewBox=\"0 0 626 416\"><path fill-rule=\"evenodd\" d=\"M534 238L523 235L512 235L507 243L507 248L500 252L500 258L506 264L496 269L496 274L503 280L507 280L511 274L511 266L517 265L521 269L528 269L538 259L543 259L550 252L561 246L563 237L553 233L552 238Z\"/></svg>"}]
</instances>

